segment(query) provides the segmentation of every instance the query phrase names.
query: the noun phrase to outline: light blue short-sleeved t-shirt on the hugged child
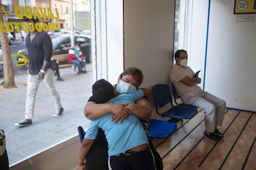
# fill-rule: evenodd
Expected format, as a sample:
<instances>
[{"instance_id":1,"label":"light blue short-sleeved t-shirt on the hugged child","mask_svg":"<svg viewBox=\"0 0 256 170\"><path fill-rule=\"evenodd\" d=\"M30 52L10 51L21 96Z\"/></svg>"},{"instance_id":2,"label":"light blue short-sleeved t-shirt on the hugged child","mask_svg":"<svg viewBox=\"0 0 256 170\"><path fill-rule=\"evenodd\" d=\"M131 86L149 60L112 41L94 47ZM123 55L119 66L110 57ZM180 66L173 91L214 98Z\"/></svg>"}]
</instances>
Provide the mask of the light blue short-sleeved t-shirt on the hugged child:
<instances>
[{"instance_id":1,"label":"light blue short-sleeved t-shirt on the hugged child","mask_svg":"<svg viewBox=\"0 0 256 170\"><path fill-rule=\"evenodd\" d=\"M136 100L142 97L143 91L142 89L138 89L134 93L119 94L107 103L135 103ZM113 113L108 113L101 118L90 121L85 138L96 139L98 128L103 129L108 140L109 156L126 152L126 150L137 147L138 145L148 144L147 134L137 116L129 115L122 123L113 123L111 121L112 115Z\"/></svg>"}]
</instances>

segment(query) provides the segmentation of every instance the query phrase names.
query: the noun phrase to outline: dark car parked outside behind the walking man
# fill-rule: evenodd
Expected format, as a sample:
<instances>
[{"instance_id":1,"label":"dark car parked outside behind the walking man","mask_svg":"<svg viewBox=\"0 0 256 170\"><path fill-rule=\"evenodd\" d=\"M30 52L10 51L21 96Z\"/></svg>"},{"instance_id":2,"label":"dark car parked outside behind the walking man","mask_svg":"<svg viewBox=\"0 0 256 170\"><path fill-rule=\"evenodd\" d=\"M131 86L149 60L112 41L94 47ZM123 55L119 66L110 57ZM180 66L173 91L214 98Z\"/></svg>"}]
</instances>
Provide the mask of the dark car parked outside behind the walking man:
<instances>
[{"instance_id":1,"label":"dark car parked outside behind the walking man","mask_svg":"<svg viewBox=\"0 0 256 170\"><path fill-rule=\"evenodd\" d=\"M75 44L80 44L82 54L86 57L86 62L90 63L91 58L91 39L85 35L75 35ZM69 49L71 47L70 35L69 34L59 34L51 37L53 42L53 55L52 59L59 61L59 65L67 64L69 59ZM21 49L17 53L28 56L27 49ZM17 60L23 60L22 57L17 57Z\"/></svg>"}]
</instances>

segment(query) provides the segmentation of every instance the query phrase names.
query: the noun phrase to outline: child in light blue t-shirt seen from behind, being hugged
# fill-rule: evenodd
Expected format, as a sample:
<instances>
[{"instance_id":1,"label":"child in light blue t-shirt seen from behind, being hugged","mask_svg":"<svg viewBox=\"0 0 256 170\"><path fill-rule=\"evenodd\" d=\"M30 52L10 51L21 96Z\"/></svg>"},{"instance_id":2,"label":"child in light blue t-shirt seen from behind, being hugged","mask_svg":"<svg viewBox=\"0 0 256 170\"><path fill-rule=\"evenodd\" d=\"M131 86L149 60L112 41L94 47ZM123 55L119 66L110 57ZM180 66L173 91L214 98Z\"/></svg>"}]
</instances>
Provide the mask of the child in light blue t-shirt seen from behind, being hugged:
<instances>
[{"instance_id":1,"label":"child in light blue t-shirt seen from behind, being hugged","mask_svg":"<svg viewBox=\"0 0 256 170\"><path fill-rule=\"evenodd\" d=\"M108 92L112 95L100 95L106 87L109 87ZM110 96L112 99L107 103L123 103L126 106L134 104L136 100L144 96L142 89L137 89L137 87L124 81L117 84L117 89L118 91L126 91L126 93L116 96L114 87L108 81L101 79L93 84L93 96L96 100ZM103 92L106 91L104 90ZM129 107L127 108L129 110ZM129 110L129 113L129 116L122 122L113 122L113 113L108 113L91 121L80 148L80 169L83 169L83 161L93 144L93 140L97 137L99 127L105 131L106 139L108 140L111 169L123 169L124 167L128 169L155 169L155 162L148 147L148 138L142 123L137 115L132 114L132 110ZM151 114L148 114L142 116L141 119L149 119L150 116Z\"/></svg>"}]
</instances>

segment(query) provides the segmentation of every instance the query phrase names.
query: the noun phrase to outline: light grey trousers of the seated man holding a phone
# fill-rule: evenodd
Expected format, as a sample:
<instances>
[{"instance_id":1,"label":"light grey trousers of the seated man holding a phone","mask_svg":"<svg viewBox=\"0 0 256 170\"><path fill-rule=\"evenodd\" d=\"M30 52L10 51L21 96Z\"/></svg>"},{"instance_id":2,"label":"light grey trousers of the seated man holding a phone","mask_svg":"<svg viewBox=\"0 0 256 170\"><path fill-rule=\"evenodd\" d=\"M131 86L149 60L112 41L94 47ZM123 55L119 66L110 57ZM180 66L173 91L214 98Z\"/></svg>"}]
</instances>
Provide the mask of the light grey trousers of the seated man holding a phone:
<instances>
[{"instance_id":1,"label":"light grey trousers of the seated man holding a phone","mask_svg":"<svg viewBox=\"0 0 256 170\"><path fill-rule=\"evenodd\" d=\"M208 92L200 92L197 96L189 97L184 103L202 108L205 113L205 129L214 132L216 126L222 126L226 110L226 102Z\"/></svg>"}]
</instances>

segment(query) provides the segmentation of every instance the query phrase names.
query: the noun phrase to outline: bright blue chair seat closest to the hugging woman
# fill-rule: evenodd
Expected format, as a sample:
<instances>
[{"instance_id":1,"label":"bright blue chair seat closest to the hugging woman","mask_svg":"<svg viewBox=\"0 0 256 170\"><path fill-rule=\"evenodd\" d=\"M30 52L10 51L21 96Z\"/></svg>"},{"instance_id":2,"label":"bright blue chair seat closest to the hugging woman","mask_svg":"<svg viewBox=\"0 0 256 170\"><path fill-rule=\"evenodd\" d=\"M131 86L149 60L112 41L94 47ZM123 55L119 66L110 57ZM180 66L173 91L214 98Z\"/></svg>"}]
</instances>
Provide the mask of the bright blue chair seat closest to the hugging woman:
<instances>
[{"instance_id":1,"label":"bright blue chair seat closest to the hugging woman","mask_svg":"<svg viewBox=\"0 0 256 170\"><path fill-rule=\"evenodd\" d=\"M150 133L148 134L148 137L151 138L167 138L171 136L177 128L176 123L158 119L150 119L148 123L150 124Z\"/></svg>"}]
</instances>

